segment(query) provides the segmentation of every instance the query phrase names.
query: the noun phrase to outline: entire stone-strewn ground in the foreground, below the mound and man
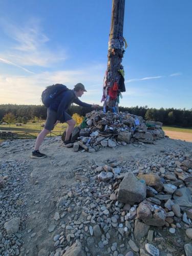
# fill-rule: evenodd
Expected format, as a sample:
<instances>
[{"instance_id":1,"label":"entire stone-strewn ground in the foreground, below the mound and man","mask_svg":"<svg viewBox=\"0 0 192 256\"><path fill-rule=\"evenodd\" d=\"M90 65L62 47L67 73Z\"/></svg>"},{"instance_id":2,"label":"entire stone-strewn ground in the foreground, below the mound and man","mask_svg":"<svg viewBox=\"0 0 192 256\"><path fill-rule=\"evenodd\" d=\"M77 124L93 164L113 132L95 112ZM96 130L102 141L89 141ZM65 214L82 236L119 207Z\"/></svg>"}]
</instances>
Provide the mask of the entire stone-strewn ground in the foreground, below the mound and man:
<instances>
[{"instance_id":1,"label":"entire stone-strewn ground in the foreground, below the mound and man","mask_svg":"<svg viewBox=\"0 0 192 256\"><path fill-rule=\"evenodd\" d=\"M192 255L192 143L0 145L0 255Z\"/></svg>"}]
</instances>

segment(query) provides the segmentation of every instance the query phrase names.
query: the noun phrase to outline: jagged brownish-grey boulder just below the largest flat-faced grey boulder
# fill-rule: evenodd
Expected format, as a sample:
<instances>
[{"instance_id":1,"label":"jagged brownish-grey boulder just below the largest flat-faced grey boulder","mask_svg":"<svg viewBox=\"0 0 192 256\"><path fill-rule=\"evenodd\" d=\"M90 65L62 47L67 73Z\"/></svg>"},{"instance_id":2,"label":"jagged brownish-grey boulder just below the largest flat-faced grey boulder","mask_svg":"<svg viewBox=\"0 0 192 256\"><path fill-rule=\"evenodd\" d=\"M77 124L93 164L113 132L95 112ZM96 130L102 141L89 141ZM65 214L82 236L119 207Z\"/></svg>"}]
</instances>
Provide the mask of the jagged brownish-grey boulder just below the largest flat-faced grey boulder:
<instances>
[{"instance_id":1,"label":"jagged brownish-grey boulder just below the largest flat-faced grey boulder","mask_svg":"<svg viewBox=\"0 0 192 256\"><path fill-rule=\"evenodd\" d=\"M150 226L164 226L166 211L161 206L154 205L144 200L137 208L137 218Z\"/></svg>"}]
</instances>

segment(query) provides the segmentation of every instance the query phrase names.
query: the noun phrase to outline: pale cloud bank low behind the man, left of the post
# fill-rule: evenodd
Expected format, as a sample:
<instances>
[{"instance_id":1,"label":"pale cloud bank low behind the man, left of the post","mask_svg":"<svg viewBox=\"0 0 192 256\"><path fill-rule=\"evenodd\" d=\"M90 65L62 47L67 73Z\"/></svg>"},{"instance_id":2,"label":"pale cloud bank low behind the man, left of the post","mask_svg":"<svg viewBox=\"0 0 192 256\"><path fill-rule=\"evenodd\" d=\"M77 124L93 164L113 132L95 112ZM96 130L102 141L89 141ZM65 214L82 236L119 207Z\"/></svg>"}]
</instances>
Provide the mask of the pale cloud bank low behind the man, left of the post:
<instances>
[{"instance_id":1,"label":"pale cloud bank low behind the man, left of the post","mask_svg":"<svg viewBox=\"0 0 192 256\"><path fill-rule=\"evenodd\" d=\"M40 104L41 93L50 84L63 83L72 89L78 82L82 82L88 90L82 100L88 103L99 103L102 96L102 80L102 65L29 76L0 75L0 103ZM97 88L94 87L95 84L98 84Z\"/></svg>"}]
</instances>

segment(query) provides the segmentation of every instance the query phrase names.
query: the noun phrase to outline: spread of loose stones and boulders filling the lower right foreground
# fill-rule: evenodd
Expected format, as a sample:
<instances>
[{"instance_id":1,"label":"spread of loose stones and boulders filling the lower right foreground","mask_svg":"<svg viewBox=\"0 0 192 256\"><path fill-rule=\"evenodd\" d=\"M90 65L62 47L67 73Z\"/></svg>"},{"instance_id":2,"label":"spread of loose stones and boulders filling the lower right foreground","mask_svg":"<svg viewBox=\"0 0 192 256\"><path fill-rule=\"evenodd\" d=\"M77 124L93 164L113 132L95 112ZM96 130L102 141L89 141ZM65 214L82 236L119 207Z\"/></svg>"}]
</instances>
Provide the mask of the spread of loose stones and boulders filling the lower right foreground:
<instances>
[{"instance_id":1,"label":"spread of loose stones and boulders filling the lower right foreground","mask_svg":"<svg viewBox=\"0 0 192 256\"><path fill-rule=\"evenodd\" d=\"M146 251L151 255L159 255L160 251L173 255L168 252L177 250L191 255L192 154L169 151L139 163L110 159L75 169L74 173L79 183L66 191L57 209L62 216L63 212L73 212L73 218L60 224L66 233L62 242L66 249L58 247L61 232L51 256L66 255L78 241L86 241L87 255L93 251L99 254L101 249L121 256L149 255ZM180 237L181 230L185 231L185 239ZM110 245L113 236L116 242ZM170 238L173 246L166 244ZM73 253L70 255L76 255Z\"/></svg>"}]
</instances>

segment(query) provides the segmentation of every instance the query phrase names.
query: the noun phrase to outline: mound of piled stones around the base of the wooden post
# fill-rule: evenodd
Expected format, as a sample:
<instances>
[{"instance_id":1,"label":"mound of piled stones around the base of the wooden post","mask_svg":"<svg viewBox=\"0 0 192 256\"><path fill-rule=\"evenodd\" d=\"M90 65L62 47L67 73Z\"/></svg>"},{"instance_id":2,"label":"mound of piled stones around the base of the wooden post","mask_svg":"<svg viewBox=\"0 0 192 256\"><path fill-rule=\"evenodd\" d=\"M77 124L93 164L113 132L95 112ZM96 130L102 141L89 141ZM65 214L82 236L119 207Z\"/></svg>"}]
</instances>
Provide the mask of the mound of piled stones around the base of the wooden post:
<instances>
[{"instance_id":1,"label":"mound of piled stones around the base of the wooden post","mask_svg":"<svg viewBox=\"0 0 192 256\"><path fill-rule=\"evenodd\" d=\"M86 118L87 127L76 127L72 133L72 143L76 140L78 142L69 144L68 147L74 146L74 151L81 147L84 151L95 152L100 147L116 147L135 141L153 143L165 136L161 122L145 121L141 116L127 112L117 114L92 111Z\"/></svg>"}]
</instances>

